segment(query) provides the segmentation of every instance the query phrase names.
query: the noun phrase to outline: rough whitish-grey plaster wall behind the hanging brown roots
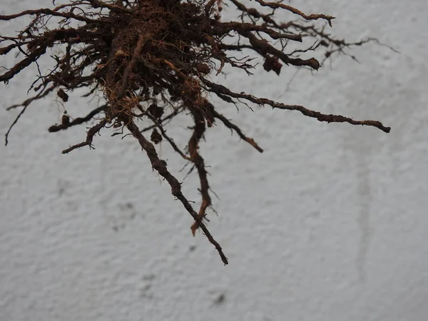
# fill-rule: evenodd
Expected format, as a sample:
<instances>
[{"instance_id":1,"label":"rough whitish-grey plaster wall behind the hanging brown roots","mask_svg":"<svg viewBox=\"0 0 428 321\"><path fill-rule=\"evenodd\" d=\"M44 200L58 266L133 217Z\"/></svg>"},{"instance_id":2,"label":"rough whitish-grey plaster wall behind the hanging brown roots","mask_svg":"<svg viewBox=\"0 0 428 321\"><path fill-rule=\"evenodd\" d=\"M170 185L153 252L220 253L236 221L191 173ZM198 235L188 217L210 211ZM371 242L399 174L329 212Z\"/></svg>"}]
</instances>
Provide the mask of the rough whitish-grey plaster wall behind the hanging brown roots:
<instances>
[{"instance_id":1,"label":"rough whitish-grey plaster wall behind the hanging brown roots","mask_svg":"<svg viewBox=\"0 0 428 321\"><path fill-rule=\"evenodd\" d=\"M288 91L291 68L218 81L379 119L391 133L220 106L265 148L258 153L221 125L201 147L220 198L209 227L230 259L224 267L203 235L190 235L190 216L133 139L104 131L96 151L63 156L84 128L49 134L62 107L39 101L0 147L1 321L427 320L428 3L292 4L337 16L336 34L376 36L401 54L368 45L354 51L360 64L335 58L332 68L298 73ZM49 5L1 0L0 12ZM22 26L12 21L1 34ZM34 74L0 86L1 133L18 113L6 106L25 98ZM78 98L66 105L72 116L90 107ZM170 129L180 146L186 124ZM183 179L183 163L166 145L160 152ZM196 201L197 186L185 180Z\"/></svg>"}]
</instances>

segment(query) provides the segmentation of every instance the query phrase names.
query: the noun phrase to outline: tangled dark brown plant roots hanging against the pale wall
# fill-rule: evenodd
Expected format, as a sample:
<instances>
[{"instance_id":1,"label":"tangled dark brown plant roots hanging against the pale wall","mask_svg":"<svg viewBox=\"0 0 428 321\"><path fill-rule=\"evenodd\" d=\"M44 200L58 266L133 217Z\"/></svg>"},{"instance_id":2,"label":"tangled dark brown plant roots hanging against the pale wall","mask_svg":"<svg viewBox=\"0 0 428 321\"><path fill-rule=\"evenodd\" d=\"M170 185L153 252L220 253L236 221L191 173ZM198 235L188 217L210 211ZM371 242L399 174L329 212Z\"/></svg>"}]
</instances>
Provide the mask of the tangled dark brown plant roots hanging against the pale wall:
<instances>
[{"instance_id":1,"label":"tangled dark brown plant roots hanging against the pale wall","mask_svg":"<svg viewBox=\"0 0 428 321\"><path fill-rule=\"evenodd\" d=\"M49 128L54 133L95 121L86 133L86 140L66 148L63 153L83 146L92 148L94 136L103 128L113 127L118 133L123 133L126 128L146 152L153 169L168 181L175 198L193 217L193 234L200 228L215 245L225 264L228 259L205 224L206 210L212 204L199 144L208 128L223 123L260 153L263 149L218 111L209 101L209 94L235 106L246 101L300 111L318 121L374 126L389 133L390 128L379 121L355 121L345 116L326 115L304 106L234 92L213 81L225 65L252 75L255 56L263 58L265 71L277 75L283 66L316 71L323 61L311 57L311 51L324 51L327 59L332 54L347 54L346 50L351 46L376 41L365 39L347 43L336 39L325 31L326 27L332 26L335 19L332 16L304 14L282 2L263 0L73 0L66 4L55 4L54 1L55 5L53 9L0 16L0 21L23 16L32 18L19 34L0 35L0 55L18 53L21 57L15 66L0 74L0 81L8 83L42 56L53 58L51 68L39 71L31 85L35 96L9 107L21 108L11 127L33 101L51 93L56 93L64 102L76 88L87 88L86 97L101 93L103 103L86 116L71 119L65 113L61 123ZM223 21L222 11L233 8L239 12L237 21ZM266 9L272 12L263 14ZM275 12L280 10L290 14L290 21L275 19ZM229 39L238 41L230 44ZM290 50L291 44L301 44L301 48ZM52 54L51 49L58 48L62 49L61 54ZM233 56L236 51L248 51L253 56L236 58ZM165 126L173 123L180 113L187 114L193 121L184 151L165 130ZM138 128L138 118L145 118L151 126ZM148 131L151 133L146 136ZM9 133L10 129L6 133L6 144ZM201 194L198 211L190 205L181 192L180 182L156 153L154 144L163 140L198 173Z\"/></svg>"}]
</instances>

